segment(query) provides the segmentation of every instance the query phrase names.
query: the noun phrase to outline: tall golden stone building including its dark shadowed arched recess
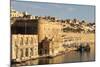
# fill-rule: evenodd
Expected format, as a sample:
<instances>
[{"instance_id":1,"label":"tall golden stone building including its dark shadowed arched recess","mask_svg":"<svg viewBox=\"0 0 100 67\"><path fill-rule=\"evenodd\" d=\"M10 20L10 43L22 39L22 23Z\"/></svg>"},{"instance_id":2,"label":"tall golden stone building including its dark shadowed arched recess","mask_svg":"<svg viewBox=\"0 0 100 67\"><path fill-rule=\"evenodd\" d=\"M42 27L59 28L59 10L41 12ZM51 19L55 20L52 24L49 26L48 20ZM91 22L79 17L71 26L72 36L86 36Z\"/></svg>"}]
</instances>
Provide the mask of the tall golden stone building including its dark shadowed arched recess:
<instances>
[{"instance_id":1,"label":"tall golden stone building including its dark shadowed arched recess","mask_svg":"<svg viewBox=\"0 0 100 67\"><path fill-rule=\"evenodd\" d=\"M62 25L58 22L39 19L39 51L42 55L56 56L63 51Z\"/></svg>"}]
</instances>

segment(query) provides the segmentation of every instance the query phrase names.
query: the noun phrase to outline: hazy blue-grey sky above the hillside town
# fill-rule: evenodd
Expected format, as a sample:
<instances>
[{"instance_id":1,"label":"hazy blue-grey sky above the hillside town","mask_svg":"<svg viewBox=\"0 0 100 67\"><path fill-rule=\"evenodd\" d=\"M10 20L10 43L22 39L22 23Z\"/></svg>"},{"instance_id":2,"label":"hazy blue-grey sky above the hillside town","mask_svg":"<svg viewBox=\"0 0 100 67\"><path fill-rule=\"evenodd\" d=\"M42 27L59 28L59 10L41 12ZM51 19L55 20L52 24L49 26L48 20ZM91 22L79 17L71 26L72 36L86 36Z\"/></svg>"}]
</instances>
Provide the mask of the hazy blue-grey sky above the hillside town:
<instances>
[{"instance_id":1,"label":"hazy blue-grey sky above the hillside town","mask_svg":"<svg viewBox=\"0 0 100 67\"><path fill-rule=\"evenodd\" d=\"M95 21L95 6L40 3L28 1L11 1L11 8L33 16L55 16L59 19L79 19L89 22Z\"/></svg>"}]
</instances>

